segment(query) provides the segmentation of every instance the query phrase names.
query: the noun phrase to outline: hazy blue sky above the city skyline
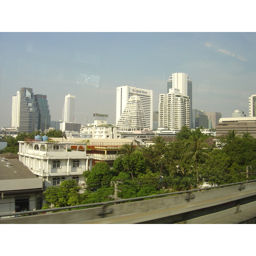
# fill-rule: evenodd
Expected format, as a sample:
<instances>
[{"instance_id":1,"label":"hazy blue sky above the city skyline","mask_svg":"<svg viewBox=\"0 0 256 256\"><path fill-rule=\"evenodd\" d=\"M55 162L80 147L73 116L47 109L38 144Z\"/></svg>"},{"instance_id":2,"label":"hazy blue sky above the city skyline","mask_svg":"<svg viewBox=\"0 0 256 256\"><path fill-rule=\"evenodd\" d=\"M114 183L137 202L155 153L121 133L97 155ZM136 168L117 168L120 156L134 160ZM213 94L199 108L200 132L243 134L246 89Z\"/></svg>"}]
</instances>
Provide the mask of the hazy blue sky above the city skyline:
<instances>
[{"instance_id":1,"label":"hazy blue sky above the city skyline","mask_svg":"<svg viewBox=\"0 0 256 256\"><path fill-rule=\"evenodd\" d=\"M115 124L116 87L167 93L172 73L193 81L193 108L248 116L256 94L255 32L1 32L0 127L11 126L12 96L21 87L46 94L52 120L64 97L76 96L76 122L109 114Z\"/></svg>"}]
</instances>

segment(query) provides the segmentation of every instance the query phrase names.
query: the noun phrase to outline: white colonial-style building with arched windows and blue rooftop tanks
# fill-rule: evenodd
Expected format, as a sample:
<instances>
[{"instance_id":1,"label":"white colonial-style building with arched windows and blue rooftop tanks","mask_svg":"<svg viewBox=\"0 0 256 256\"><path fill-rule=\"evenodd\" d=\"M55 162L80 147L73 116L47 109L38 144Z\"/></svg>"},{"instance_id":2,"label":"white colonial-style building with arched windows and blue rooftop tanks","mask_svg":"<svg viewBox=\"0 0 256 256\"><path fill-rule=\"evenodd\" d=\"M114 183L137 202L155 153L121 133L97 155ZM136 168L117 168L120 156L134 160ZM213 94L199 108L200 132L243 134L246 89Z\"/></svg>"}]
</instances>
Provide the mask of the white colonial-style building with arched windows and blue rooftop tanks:
<instances>
[{"instance_id":1,"label":"white colonial-style building with arched windows and blue rooftop tanks","mask_svg":"<svg viewBox=\"0 0 256 256\"><path fill-rule=\"evenodd\" d=\"M84 183L83 172L92 167L85 142L19 141L19 160L35 175L44 178L44 187L74 179Z\"/></svg>"}]
</instances>

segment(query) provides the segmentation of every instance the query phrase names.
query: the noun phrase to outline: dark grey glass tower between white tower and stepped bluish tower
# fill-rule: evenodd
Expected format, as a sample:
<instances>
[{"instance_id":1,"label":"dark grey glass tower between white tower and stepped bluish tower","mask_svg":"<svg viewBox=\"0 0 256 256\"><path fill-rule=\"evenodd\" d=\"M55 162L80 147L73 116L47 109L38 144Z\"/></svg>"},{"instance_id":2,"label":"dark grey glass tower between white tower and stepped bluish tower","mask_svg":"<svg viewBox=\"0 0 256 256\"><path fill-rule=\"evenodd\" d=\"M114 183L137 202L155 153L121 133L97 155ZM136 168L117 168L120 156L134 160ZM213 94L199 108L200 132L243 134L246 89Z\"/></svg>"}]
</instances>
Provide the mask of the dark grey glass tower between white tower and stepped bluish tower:
<instances>
[{"instance_id":1,"label":"dark grey glass tower between white tower and stepped bluish tower","mask_svg":"<svg viewBox=\"0 0 256 256\"><path fill-rule=\"evenodd\" d=\"M38 130L39 111L32 88L20 89L20 133Z\"/></svg>"}]
</instances>

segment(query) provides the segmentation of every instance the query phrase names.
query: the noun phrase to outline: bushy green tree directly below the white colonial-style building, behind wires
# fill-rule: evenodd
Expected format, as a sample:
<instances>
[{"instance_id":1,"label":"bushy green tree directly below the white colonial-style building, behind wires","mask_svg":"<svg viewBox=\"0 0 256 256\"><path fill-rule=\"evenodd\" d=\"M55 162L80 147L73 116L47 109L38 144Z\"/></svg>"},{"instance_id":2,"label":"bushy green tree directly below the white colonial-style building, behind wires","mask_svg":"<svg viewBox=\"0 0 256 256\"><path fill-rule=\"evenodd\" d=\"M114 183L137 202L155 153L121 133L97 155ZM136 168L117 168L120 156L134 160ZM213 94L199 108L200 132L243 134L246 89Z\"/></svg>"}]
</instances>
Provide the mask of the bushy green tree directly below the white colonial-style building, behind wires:
<instances>
[{"instance_id":1,"label":"bushy green tree directly below the white colonial-style building, behind wires","mask_svg":"<svg viewBox=\"0 0 256 256\"><path fill-rule=\"evenodd\" d=\"M45 200L54 207L65 207L81 203L80 187L76 180L61 181L58 186L51 186L44 192Z\"/></svg>"}]
</instances>

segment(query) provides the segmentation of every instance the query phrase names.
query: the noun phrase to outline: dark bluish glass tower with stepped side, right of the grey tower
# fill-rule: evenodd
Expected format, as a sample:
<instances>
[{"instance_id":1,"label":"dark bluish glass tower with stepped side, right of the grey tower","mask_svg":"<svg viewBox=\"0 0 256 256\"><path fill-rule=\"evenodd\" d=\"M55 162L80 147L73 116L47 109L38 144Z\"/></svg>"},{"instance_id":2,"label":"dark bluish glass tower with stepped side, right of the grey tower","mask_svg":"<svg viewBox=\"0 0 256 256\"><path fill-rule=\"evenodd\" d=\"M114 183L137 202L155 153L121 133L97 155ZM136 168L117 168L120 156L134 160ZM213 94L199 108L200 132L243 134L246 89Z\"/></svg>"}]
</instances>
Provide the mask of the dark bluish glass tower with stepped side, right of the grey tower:
<instances>
[{"instance_id":1,"label":"dark bluish glass tower with stepped side, right of the grey tower","mask_svg":"<svg viewBox=\"0 0 256 256\"><path fill-rule=\"evenodd\" d=\"M47 96L44 94L35 94L35 101L39 111L38 129L44 132L45 129L49 129L51 122Z\"/></svg>"}]
</instances>

